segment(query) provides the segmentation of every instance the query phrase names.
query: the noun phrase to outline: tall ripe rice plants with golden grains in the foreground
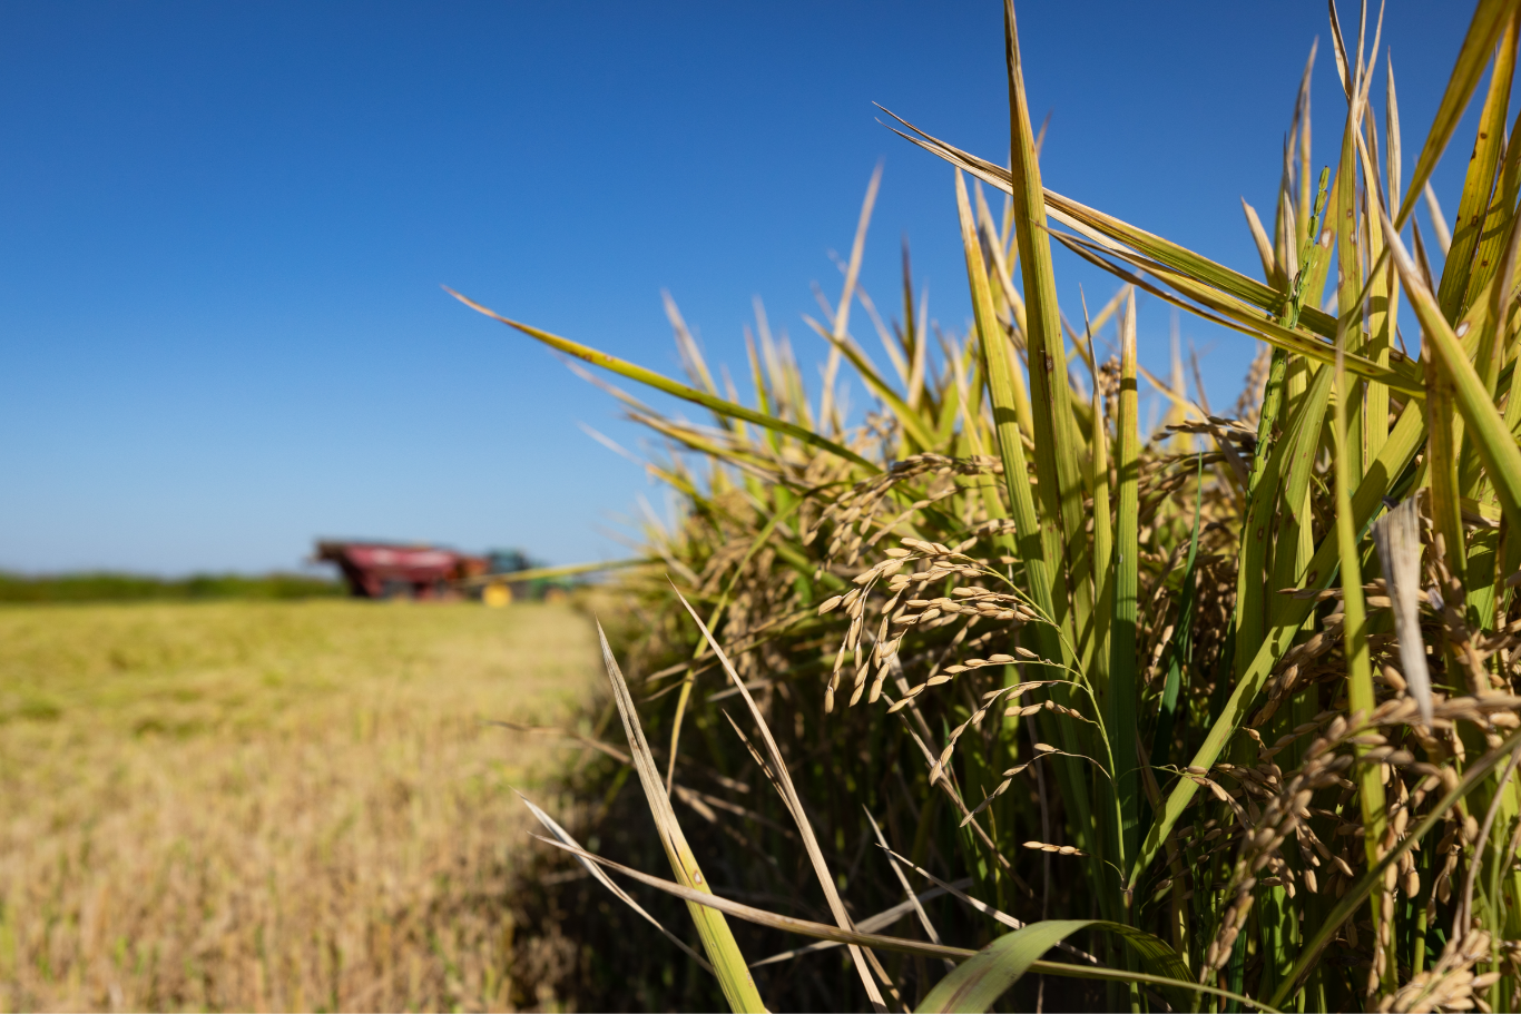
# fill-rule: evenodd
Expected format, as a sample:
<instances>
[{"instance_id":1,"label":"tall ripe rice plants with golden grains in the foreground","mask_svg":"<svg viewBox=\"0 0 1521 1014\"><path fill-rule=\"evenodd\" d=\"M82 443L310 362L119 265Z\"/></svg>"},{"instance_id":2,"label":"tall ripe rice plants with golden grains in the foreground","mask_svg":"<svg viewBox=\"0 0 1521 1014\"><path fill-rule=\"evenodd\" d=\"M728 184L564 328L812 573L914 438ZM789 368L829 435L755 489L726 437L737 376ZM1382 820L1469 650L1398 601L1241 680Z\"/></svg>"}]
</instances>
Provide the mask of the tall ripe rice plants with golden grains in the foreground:
<instances>
[{"instance_id":1,"label":"tall ripe rice plants with golden grains in the foreground","mask_svg":"<svg viewBox=\"0 0 1521 1014\"><path fill-rule=\"evenodd\" d=\"M1311 52L1270 214L1243 202L1261 280L1043 187L1005 2L1007 166L888 114L955 167L966 334L907 252L896 321L858 284L876 179L814 397L759 309L748 397L674 312L686 382L497 318L710 414L598 379L686 506L633 579L634 675L604 640L672 877L551 830L687 902L733 1009L806 1009L776 968L829 946L843 1009L1521 1008L1521 3L1478 3L1408 176L1383 12L1331 14L1340 158L1310 160ZM1475 96L1448 233L1428 181ZM1053 245L1118 292L1059 306ZM1138 365L1138 295L1259 344L1230 415ZM736 920L794 943L742 953Z\"/></svg>"}]
</instances>

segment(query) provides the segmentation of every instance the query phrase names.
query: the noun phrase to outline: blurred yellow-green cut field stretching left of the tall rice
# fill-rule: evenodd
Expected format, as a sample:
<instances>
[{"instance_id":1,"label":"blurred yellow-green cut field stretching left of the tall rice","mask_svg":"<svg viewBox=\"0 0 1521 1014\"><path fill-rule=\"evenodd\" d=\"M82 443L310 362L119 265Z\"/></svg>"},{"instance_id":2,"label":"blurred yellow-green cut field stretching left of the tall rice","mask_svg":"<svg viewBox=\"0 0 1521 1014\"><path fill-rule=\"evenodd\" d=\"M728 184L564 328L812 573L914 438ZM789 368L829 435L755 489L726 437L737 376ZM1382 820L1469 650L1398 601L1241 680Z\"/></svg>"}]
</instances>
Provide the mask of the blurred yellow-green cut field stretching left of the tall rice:
<instances>
[{"instance_id":1,"label":"blurred yellow-green cut field stretching left of the tall rice","mask_svg":"<svg viewBox=\"0 0 1521 1014\"><path fill-rule=\"evenodd\" d=\"M560 1009L511 786L599 680L567 607L0 610L0 1011Z\"/></svg>"}]
</instances>

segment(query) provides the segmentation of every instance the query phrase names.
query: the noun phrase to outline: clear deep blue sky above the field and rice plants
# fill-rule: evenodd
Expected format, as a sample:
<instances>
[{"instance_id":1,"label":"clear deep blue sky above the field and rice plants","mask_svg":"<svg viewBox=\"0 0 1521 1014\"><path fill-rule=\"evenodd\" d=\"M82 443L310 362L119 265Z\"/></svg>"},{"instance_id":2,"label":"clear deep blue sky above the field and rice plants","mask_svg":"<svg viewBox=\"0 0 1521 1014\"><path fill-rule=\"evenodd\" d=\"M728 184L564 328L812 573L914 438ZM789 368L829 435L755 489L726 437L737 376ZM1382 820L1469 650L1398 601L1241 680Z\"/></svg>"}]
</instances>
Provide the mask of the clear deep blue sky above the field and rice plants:
<instances>
[{"instance_id":1,"label":"clear deep blue sky above the field and rice plants","mask_svg":"<svg viewBox=\"0 0 1521 1014\"><path fill-rule=\"evenodd\" d=\"M1392 5L1407 172L1469 14ZM1317 164L1340 140L1325 6L1019 15L1033 106L1054 112L1048 185L1259 274L1238 196L1272 208L1317 35ZM663 287L736 372L759 295L814 359L809 283L838 290L829 251L885 160L864 281L891 303L907 234L932 315L960 328L951 170L872 102L1002 160L999 17L0 2L0 567L265 570L315 535L621 555L599 529L659 490L578 423L639 435L440 284L666 371ZM1469 143L1437 176L1454 204ZM1057 269L1074 315L1077 283L1113 289ZM1142 309L1144 360L1165 362L1167 328ZM1252 350L1183 330L1229 404Z\"/></svg>"}]
</instances>

